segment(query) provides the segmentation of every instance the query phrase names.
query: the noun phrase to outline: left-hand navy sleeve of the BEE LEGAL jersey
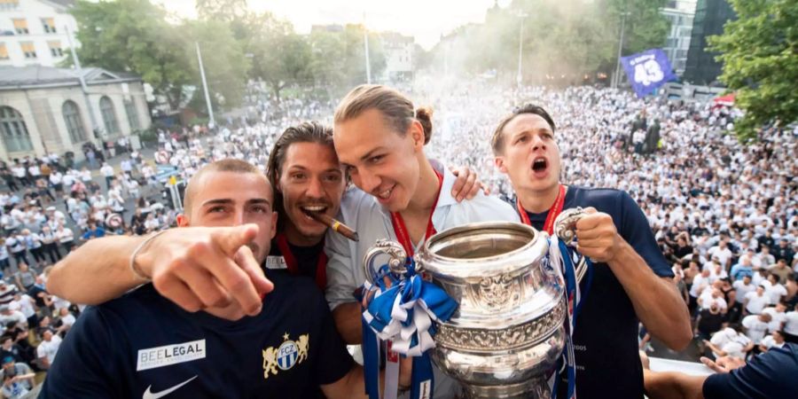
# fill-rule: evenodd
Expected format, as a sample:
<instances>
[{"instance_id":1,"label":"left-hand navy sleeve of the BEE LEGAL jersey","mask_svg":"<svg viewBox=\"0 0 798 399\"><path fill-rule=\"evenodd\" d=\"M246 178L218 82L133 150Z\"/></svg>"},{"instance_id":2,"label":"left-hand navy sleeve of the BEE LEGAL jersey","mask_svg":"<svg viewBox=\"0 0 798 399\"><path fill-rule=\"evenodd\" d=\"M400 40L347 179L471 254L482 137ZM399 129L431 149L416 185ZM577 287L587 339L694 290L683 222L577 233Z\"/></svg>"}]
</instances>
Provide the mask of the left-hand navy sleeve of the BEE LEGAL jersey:
<instances>
[{"instance_id":1,"label":"left-hand navy sleeve of the BEE LEGAL jersey","mask_svg":"<svg viewBox=\"0 0 798 399\"><path fill-rule=\"evenodd\" d=\"M39 398L126 397L111 385L121 377L109 359L114 352L100 311L85 309L61 342Z\"/></svg>"}]
</instances>

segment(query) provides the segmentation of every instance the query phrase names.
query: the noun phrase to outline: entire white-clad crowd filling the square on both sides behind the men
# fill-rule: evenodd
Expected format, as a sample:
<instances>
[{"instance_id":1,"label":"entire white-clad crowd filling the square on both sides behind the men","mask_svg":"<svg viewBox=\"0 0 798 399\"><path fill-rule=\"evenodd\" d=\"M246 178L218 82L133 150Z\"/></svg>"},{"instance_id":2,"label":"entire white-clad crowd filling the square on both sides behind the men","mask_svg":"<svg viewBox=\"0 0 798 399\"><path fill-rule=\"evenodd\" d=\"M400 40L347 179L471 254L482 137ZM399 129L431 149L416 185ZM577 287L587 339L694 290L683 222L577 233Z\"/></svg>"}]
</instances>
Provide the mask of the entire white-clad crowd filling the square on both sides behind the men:
<instances>
[{"instance_id":1,"label":"entire white-clad crowd filling the square on both sides behind the men","mask_svg":"<svg viewBox=\"0 0 798 399\"><path fill-rule=\"evenodd\" d=\"M702 350L744 357L783 346L785 334L798 336L798 129L765 127L758 142L743 145L733 135L738 111L713 104L638 99L588 86L419 87L425 89L412 93L416 102L435 110L431 157L472 168L505 200L512 187L494 167L492 129L514 106L549 109L568 164L563 181L622 189L638 201L673 265ZM173 226L177 210L161 196L164 167L187 180L210 161L235 158L265 172L283 129L309 120L330 124L335 102L278 104L256 97L246 116L222 126L160 130L153 159L125 142L87 149L82 168L55 154L0 165L6 186L0 191L0 360L3 375L16 377L15 392L27 389L31 370L46 370L59 337L80 314L47 293L48 267L83 240ZM121 160L113 167L116 153Z\"/></svg>"}]
</instances>

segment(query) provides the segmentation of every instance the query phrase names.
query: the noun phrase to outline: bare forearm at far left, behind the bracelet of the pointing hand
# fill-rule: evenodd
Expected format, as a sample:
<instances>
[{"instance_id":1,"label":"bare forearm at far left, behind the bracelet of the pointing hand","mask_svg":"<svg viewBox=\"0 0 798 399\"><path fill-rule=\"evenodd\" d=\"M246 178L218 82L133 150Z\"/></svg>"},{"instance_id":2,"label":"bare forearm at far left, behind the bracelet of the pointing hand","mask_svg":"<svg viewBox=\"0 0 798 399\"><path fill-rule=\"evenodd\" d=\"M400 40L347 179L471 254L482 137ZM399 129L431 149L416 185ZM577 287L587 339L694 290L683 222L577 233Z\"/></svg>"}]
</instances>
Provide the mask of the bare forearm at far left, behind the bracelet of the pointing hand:
<instances>
[{"instance_id":1,"label":"bare forearm at far left, behind the bracelet of the pointing hand","mask_svg":"<svg viewBox=\"0 0 798 399\"><path fill-rule=\"evenodd\" d=\"M142 284L129 270L130 255L142 236L91 239L56 263L47 291L67 301L97 305Z\"/></svg>"}]
</instances>

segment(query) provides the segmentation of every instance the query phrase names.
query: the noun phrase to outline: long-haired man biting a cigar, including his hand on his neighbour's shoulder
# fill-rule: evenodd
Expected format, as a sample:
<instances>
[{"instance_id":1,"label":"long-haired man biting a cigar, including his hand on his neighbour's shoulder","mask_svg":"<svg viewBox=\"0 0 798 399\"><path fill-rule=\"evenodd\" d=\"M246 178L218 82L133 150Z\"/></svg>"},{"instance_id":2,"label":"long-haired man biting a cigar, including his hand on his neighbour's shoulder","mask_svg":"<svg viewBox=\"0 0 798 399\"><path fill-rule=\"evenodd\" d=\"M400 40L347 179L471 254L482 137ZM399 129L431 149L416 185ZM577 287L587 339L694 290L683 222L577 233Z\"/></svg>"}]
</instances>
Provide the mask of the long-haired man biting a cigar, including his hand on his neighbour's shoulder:
<instances>
[{"instance_id":1,"label":"long-haired man biting a cigar, including his hand on his neighbour's shoulder","mask_svg":"<svg viewBox=\"0 0 798 399\"><path fill-rule=\"evenodd\" d=\"M470 170L459 168L452 173L458 176L453 196L470 199L479 192L481 184ZM356 239L356 232L349 234L351 229L332 219L339 213L341 197L348 195L348 181L332 146L332 129L316 121L286 129L272 148L267 175L280 194L275 201L280 217L266 267L314 278L324 290L327 227Z\"/></svg>"}]
</instances>

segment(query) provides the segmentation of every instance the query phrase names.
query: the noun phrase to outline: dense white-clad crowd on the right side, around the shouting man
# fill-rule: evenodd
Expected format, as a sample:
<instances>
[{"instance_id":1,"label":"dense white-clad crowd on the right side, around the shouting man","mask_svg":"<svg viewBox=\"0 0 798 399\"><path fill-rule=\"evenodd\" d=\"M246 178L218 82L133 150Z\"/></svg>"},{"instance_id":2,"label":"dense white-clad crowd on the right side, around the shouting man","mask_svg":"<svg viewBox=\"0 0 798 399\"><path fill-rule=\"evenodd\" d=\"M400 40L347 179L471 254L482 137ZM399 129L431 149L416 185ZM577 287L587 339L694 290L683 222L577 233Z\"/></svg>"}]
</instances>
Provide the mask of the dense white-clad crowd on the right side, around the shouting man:
<instances>
[{"instance_id":1,"label":"dense white-clad crowd on the right side, around the shouting man","mask_svg":"<svg viewBox=\"0 0 798 399\"><path fill-rule=\"evenodd\" d=\"M741 144L734 108L591 87L426 95L443 114L431 153L471 166L505 198L512 189L484 137L512 106L547 106L561 121L564 181L638 201L707 340L700 349L745 356L798 336L798 128L766 127Z\"/></svg>"}]
</instances>

